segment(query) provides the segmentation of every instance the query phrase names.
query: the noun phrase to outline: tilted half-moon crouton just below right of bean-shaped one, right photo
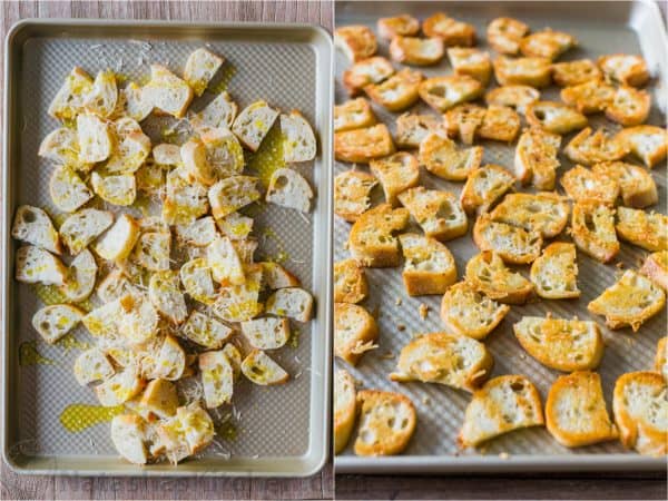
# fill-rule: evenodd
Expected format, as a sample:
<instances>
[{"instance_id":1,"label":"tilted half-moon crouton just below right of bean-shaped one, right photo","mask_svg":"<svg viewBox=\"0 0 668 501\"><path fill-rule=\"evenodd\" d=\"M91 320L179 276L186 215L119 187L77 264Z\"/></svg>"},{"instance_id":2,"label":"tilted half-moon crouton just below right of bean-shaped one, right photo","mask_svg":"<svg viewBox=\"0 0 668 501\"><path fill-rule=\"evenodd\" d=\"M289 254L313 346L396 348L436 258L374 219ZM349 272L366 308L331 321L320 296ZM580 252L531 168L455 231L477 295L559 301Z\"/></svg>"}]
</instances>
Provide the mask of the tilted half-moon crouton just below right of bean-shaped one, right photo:
<instances>
[{"instance_id":1,"label":"tilted half-moon crouton just below right of bean-shaped one, right photo","mask_svg":"<svg viewBox=\"0 0 668 501\"><path fill-rule=\"evenodd\" d=\"M489 164L477 168L462 188L460 202L463 209L469 214L487 213L514 181L514 176L501 166Z\"/></svg>"}]
</instances>

